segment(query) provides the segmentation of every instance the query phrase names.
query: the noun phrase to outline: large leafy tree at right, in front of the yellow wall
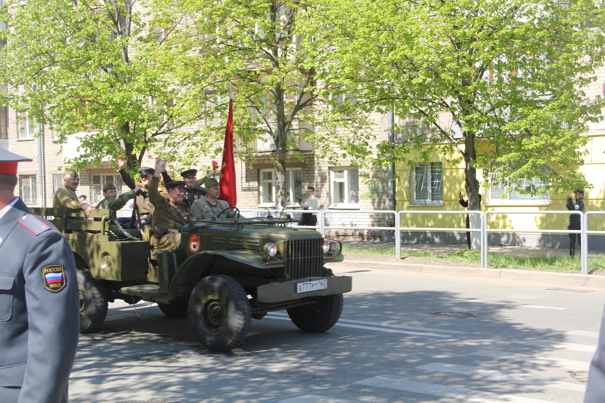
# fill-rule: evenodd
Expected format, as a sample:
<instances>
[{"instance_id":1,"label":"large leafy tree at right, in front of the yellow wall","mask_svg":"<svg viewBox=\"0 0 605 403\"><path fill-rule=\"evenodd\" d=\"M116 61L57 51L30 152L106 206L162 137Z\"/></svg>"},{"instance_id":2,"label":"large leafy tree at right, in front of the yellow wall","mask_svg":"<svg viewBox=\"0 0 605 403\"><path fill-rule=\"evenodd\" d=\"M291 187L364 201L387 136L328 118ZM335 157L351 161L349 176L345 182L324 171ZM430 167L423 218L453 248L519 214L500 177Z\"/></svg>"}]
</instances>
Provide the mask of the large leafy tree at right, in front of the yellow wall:
<instances>
[{"instance_id":1,"label":"large leafy tree at right, in front of the yellow wall","mask_svg":"<svg viewBox=\"0 0 605 403\"><path fill-rule=\"evenodd\" d=\"M327 74L359 86L359 107L412 123L381 144L377 164L456 152L474 210L477 169L508 189L548 183L517 187L525 193L588 185L573 168L604 106L582 90L604 62L597 1L326 0L310 13L302 31L333 44Z\"/></svg>"}]
</instances>

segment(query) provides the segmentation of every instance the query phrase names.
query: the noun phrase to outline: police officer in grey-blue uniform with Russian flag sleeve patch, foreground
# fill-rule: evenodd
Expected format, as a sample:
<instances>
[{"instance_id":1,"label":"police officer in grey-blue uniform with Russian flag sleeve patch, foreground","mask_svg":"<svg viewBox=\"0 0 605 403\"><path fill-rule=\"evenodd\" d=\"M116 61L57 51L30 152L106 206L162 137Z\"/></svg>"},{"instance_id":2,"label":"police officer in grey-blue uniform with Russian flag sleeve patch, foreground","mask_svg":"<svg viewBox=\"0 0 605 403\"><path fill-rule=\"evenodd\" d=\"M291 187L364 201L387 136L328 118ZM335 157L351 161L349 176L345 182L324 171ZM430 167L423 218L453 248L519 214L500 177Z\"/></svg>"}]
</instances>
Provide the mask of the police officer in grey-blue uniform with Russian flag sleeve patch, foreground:
<instances>
[{"instance_id":1,"label":"police officer in grey-blue uniform with Russian flag sleeve patch, foreground","mask_svg":"<svg viewBox=\"0 0 605 403\"><path fill-rule=\"evenodd\" d=\"M0 402L65 403L76 356L76 265L64 236L15 197L17 164L0 149Z\"/></svg>"}]
</instances>

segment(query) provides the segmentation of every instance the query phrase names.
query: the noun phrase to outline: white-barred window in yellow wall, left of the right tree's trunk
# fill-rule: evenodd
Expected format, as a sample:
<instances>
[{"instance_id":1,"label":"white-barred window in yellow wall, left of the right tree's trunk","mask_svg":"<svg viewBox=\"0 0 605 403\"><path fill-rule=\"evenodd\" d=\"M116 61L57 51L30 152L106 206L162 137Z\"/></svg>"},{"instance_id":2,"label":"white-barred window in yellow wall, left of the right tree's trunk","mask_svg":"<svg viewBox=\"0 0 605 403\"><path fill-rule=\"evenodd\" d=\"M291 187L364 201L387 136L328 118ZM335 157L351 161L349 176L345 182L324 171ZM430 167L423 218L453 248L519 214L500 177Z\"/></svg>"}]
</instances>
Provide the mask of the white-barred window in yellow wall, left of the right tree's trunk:
<instances>
[{"instance_id":1,"label":"white-barred window in yellow wall, left of the right tree's trunk","mask_svg":"<svg viewBox=\"0 0 605 403\"><path fill-rule=\"evenodd\" d=\"M427 163L410 167L405 189L410 204L443 204L443 164Z\"/></svg>"}]
</instances>

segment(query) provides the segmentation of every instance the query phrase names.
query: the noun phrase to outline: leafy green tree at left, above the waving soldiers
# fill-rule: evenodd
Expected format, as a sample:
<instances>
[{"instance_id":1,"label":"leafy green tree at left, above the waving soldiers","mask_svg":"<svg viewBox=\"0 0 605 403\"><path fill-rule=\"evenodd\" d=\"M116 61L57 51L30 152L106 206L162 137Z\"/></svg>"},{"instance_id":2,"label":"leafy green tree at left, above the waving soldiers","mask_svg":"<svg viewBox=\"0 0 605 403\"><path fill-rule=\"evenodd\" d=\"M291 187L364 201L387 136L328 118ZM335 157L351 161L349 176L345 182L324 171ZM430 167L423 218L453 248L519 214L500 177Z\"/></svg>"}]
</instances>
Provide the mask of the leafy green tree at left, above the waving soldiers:
<instances>
[{"instance_id":1,"label":"leafy green tree at left, above the waving soldiers","mask_svg":"<svg viewBox=\"0 0 605 403\"><path fill-rule=\"evenodd\" d=\"M153 17L136 0L5 1L0 103L58 132L59 143L80 134L75 167L124 154L134 169L148 151L190 163L221 136L195 128L214 114L214 76Z\"/></svg>"}]
</instances>

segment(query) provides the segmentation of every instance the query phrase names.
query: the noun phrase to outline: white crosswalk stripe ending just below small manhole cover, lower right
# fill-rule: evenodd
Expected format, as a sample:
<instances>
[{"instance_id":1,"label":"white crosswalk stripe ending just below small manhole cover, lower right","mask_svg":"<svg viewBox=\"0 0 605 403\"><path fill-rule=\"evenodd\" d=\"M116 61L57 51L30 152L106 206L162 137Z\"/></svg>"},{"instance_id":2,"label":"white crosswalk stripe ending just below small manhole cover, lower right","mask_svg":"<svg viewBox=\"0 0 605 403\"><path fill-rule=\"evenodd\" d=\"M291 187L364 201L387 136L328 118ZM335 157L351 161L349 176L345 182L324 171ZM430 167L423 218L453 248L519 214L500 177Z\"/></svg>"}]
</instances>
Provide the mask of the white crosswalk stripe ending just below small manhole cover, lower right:
<instances>
[{"instance_id":1,"label":"white crosswalk stripe ending just below small manhole cover, lower right","mask_svg":"<svg viewBox=\"0 0 605 403\"><path fill-rule=\"evenodd\" d=\"M457 373L459 375L474 376L477 378L484 378L487 381L517 382L521 384L540 385L555 389L572 390L574 392L584 392L584 389L586 389L586 384L548 381L546 379L540 379L537 376L532 376L528 374L515 374L512 372L499 371L494 369L466 367L456 364L430 363L417 366L416 368L425 369L433 372L447 372Z\"/></svg>"}]
</instances>

